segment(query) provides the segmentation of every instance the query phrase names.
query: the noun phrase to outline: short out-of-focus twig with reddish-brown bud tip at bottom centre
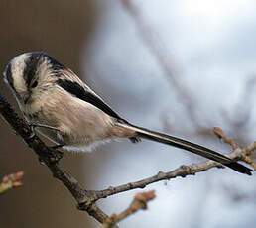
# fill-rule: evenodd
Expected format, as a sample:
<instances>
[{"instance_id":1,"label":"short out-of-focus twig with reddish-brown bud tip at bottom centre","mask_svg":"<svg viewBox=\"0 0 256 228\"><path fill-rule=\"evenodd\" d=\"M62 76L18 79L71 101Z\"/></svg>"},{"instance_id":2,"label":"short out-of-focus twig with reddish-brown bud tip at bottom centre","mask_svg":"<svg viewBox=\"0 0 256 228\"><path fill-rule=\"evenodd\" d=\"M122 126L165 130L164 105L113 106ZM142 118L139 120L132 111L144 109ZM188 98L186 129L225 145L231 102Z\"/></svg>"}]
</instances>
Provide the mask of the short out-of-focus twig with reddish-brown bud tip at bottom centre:
<instances>
[{"instance_id":1,"label":"short out-of-focus twig with reddish-brown bud tip at bottom centre","mask_svg":"<svg viewBox=\"0 0 256 228\"><path fill-rule=\"evenodd\" d=\"M134 196L134 199L130 206L125 209L120 214L113 214L109 219L107 219L104 224L103 228L112 228L114 227L118 222L121 220L124 220L128 216L136 213L139 210L146 210L147 209L147 203L151 200L153 200L156 197L155 191L147 191L147 192L141 192L137 193Z\"/></svg>"}]
</instances>

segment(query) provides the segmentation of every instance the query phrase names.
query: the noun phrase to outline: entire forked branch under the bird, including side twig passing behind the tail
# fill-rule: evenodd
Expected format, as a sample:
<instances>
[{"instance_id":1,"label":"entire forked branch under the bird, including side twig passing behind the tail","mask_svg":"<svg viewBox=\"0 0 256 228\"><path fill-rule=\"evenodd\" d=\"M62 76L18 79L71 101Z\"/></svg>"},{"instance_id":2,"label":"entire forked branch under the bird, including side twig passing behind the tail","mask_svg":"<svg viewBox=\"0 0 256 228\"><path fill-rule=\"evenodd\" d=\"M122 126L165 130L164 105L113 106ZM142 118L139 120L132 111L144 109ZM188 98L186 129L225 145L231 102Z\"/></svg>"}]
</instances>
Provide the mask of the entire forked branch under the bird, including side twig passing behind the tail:
<instances>
[{"instance_id":1,"label":"entire forked branch under the bird, including side twig passing behind the tail","mask_svg":"<svg viewBox=\"0 0 256 228\"><path fill-rule=\"evenodd\" d=\"M144 188L145 186L157 181L176 178L179 176L186 177L187 175L194 175L197 172L207 171L211 168L223 168L222 165L216 162L207 161L189 166L181 166L174 171L160 171L154 176L115 187L109 187L104 190L87 191L80 186L78 181L72 175L64 171L60 166L59 161L63 154L60 151L47 147L44 142L34 134L27 122L15 113L11 105L2 95L0 95L0 113L15 132L19 134L27 145L34 150L34 152L39 156L40 161L46 164L50 171L52 171L53 176L64 183L65 187L76 200L78 209L86 211L100 223L112 220L96 205L96 201L99 199L135 188ZM235 149L228 155L231 159L244 161L254 167L254 169L256 168L254 161L250 158L252 152L256 149L256 142L241 149L232 139L229 139L220 128L215 128L214 132L219 138L230 144L232 148ZM122 216L120 215L120 217Z\"/></svg>"}]
</instances>

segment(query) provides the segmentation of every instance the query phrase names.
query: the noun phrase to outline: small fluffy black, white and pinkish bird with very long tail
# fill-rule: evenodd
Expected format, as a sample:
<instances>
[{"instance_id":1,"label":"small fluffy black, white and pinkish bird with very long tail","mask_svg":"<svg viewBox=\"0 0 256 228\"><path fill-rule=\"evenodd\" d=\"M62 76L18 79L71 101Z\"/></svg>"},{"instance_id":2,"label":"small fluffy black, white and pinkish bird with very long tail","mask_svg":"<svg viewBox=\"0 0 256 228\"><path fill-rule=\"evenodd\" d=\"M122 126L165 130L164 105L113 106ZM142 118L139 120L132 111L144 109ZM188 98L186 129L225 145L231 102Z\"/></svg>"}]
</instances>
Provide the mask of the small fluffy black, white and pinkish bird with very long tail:
<instances>
[{"instance_id":1,"label":"small fluffy black, white and pinkish bird with very long tail","mask_svg":"<svg viewBox=\"0 0 256 228\"><path fill-rule=\"evenodd\" d=\"M33 129L54 148L87 152L114 139L141 139L174 146L251 175L252 170L209 148L129 123L64 64L45 52L12 58L3 72Z\"/></svg>"}]
</instances>

